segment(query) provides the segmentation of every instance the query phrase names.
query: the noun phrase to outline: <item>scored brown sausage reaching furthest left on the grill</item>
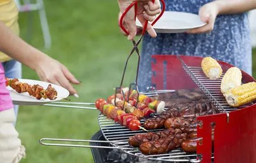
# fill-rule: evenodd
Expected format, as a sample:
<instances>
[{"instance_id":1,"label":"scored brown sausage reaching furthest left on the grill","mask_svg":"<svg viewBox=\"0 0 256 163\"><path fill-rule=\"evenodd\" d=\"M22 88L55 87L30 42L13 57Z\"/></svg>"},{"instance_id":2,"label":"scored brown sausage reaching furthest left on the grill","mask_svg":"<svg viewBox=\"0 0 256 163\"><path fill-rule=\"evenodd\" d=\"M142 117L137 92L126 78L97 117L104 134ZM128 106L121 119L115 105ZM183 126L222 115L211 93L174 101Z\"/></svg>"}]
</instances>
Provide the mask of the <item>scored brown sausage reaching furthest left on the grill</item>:
<instances>
[{"instance_id":1,"label":"scored brown sausage reaching furthest left on the grill","mask_svg":"<svg viewBox=\"0 0 256 163\"><path fill-rule=\"evenodd\" d=\"M168 138L170 135L181 134L179 129L170 128L168 130L149 132L146 134L137 134L129 138L129 144L133 147L139 147L140 144L147 141L159 140L160 138Z\"/></svg>"}]
</instances>

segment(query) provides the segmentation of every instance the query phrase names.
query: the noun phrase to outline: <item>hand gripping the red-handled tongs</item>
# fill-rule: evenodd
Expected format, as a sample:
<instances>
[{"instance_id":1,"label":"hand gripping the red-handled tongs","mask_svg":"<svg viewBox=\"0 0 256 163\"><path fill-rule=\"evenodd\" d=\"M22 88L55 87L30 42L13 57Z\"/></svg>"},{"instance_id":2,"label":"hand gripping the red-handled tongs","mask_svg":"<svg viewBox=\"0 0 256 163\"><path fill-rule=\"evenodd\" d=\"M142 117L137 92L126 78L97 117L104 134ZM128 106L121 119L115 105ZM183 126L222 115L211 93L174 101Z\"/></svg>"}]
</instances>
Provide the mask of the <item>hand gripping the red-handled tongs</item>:
<instances>
[{"instance_id":1,"label":"hand gripping the red-handled tongs","mask_svg":"<svg viewBox=\"0 0 256 163\"><path fill-rule=\"evenodd\" d=\"M135 0L119 0L119 8L120 8L119 20L122 13L134 1ZM153 21L156 18L156 15L161 12L161 9L160 9L161 6L160 6L159 0L156 0L155 3L153 3L151 0L137 0L137 1L138 1L137 18L139 19L140 23L142 23L142 25L144 25L146 21ZM129 40L132 40L137 33L137 27L136 27L136 22L134 20L134 16L135 16L134 7L131 8L129 12L126 13L126 16L124 16L123 26L129 32L129 36L128 36ZM146 30L150 36L152 36L153 38L156 37L156 32L152 28L150 23L148 23ZM121 29L121 32L124 33L122 29Z\"/></svg>"}]
</instances>

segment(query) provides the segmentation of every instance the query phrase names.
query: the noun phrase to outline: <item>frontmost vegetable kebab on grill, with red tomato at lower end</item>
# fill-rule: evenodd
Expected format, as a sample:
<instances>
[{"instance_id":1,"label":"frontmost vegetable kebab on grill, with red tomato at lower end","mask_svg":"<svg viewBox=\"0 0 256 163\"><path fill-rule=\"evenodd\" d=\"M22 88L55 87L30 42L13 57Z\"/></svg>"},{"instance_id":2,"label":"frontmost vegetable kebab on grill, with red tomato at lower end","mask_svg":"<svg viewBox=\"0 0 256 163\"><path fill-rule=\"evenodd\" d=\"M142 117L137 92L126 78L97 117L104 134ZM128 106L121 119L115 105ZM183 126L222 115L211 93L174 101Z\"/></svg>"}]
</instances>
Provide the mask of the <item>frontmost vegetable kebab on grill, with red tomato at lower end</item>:
<instances>
[{"instance_id":1,"label":"frontmost vegetable kebab on grill, with red tomato at lower end","mask_svg":"<svg viewBox=\"0 0 256 163\"><path fill-rule=\"evenodd\" d=\"M98 99L95 106L102 114L113 119L124 127L128 127L132 131L139 130L141 127L140 121L136 116L131 113L126 113L121 108L114 106L113 104L108 104L105 99ZM147 130L146 130L147 131Z\"/></svg>"}]
</instances>

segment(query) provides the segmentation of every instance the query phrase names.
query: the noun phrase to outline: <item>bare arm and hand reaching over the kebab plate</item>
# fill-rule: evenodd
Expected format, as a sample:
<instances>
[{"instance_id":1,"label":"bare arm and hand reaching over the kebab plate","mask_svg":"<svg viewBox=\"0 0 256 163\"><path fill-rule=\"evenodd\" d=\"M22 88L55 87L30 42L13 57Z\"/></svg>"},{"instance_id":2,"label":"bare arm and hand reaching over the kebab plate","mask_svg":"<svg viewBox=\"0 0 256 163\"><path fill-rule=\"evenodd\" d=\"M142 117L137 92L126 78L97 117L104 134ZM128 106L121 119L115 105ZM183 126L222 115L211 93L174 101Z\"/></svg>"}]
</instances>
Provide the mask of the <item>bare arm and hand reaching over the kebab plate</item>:
<instances>
[{"instance_id":1,"label":"bare arm and hand reaching over the kebab plate","mask_svg":"<svg viewBox=\"0 0 256 163\"><path fill-rule=\"evenodd\" d=\"M71 94L78 97L77 91L69 82L74 84L80 82L63 64L28 45L24 40L14 35L1 21L0 50L35 70L41 80L63 86Z\"/></svg>"}]
</instances>

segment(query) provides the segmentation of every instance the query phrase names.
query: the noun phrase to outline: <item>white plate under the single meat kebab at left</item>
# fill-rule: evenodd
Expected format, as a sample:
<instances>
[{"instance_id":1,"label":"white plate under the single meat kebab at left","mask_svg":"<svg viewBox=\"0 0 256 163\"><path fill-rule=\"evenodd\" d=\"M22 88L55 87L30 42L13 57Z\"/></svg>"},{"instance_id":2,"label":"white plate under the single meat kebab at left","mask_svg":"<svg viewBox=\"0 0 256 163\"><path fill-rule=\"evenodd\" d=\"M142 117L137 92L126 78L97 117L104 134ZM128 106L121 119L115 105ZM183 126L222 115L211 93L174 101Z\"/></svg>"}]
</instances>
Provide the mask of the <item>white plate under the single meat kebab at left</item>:
<instances>
[{"instance_id":1,"label":"white plate under the single meat kebab at left","mask_svg":"<svg viewBox=\"0 0 256 163\"><path fill-rule=\"evenodd\" d=\"M51 84L51 83L47 83L47 82L41 82L38 80L29 80L29 79L19 79L19 82L28 83L31 85L39 84L40 86L44 87L44 89L47 89L48 85ZM50 100L50 99L37 100L37 99L35 99L35 97L29 96L29 94L27 92L18 93L17 91L15 91L14 89L12 89L9 86L6 88L10 91L12 102L14 104L18 104L18 105L42 105L42 104L49 103L52 101L58 101L58 100L65 99L70 94L69 91L64 89L63 87L57 86L55 84L51 84L51 86L54 87L54 89L57 91L57 99L55 99L55 100Z\"/></svg>"}]
</instances>

